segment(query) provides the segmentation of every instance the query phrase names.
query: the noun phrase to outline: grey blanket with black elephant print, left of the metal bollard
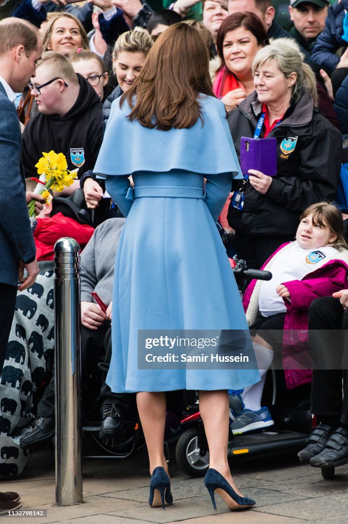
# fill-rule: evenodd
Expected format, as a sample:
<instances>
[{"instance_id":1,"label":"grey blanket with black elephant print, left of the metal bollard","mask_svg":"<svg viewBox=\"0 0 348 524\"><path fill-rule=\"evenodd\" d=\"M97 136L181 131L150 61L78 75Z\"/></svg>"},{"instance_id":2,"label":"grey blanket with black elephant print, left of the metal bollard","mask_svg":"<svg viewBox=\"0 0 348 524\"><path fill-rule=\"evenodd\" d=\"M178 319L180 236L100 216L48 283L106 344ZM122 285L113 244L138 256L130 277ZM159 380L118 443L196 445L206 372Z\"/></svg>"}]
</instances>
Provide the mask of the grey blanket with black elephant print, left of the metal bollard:
<instances>
[{"instance_id":1,"label":"grey blanket with black elephant print, left of the metal bollard","mask_svg":"<svg viewBox=\"0 0 348 524\"><path fill-rule=\"evenodd\" d=\"M18 291L5 363L0 376L0 475L20 474L31 449L21 449L21 436L31 430L40 388L53 362L53 271L39 275L25 291Z\"/></svg>"}]
</instances>

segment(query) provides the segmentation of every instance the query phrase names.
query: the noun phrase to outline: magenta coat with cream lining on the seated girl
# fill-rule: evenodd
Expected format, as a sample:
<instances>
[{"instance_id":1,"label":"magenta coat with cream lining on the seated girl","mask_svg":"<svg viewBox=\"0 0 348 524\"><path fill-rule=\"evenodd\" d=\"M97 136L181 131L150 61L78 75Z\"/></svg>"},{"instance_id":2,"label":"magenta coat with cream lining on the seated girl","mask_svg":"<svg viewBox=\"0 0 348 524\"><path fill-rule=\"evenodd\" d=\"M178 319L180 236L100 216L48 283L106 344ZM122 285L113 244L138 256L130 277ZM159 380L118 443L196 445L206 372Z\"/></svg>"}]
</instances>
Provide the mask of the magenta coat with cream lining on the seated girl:
<instances>
[{"instance_id":1,"label":"magenta coat with cream lining on the seated girl","mask_svg":"<svg viewBox=\"0 0 348 524\"><path fill-rule=\"evenodd\" d=\"M261 269L272 272L272 265L277 258L276 254L281 249L287 249L290 244L282 244L266 260ZM288 288L291 295L291 302L284 299L287 311L283 333L283 364L288 389L311 381L311 371L306 365L306 362L308 365L310 363L306 344L308 342L308 309L311 302L315 298L331 296L334 291L347 287L348 252L346 249L339 249L339 252L342 259L329 259L326 264L312 271L302 280L279 282ZM243 296L243 307L249 326L256 320L259 311L260 286L260 280L252 280ZM297 358L294 356L296 354ZM299 362L303 365L301 366ZM296 369L292 369L292 366L296 366ZM299 369L300 367L303 369Z\"/></svg>"}]
</instances>

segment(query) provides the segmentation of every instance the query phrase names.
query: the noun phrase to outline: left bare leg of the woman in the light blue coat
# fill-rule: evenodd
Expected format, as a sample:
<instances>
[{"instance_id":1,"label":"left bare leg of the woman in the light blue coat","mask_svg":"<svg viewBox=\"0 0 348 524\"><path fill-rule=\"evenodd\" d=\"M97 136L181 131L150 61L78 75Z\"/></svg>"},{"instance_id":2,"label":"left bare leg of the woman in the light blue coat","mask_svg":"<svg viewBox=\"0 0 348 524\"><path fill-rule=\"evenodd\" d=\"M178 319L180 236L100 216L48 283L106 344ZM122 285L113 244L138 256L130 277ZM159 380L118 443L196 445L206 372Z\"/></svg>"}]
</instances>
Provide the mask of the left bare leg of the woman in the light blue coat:
<instances>
[{"instance_id":1,"label":"left bare leg of the woman in the light blue coat","mask_svg":"<svg viewBox=\"0 0 348 524\"><path fill-rule=\"evenodd\" d=\"M166 395L163 392L142 391L136 394L136 403L147 446L150 474L157 466L162 466L168 473L168 465L163 448L166 424Z\"/></svg>"}]
</instances>

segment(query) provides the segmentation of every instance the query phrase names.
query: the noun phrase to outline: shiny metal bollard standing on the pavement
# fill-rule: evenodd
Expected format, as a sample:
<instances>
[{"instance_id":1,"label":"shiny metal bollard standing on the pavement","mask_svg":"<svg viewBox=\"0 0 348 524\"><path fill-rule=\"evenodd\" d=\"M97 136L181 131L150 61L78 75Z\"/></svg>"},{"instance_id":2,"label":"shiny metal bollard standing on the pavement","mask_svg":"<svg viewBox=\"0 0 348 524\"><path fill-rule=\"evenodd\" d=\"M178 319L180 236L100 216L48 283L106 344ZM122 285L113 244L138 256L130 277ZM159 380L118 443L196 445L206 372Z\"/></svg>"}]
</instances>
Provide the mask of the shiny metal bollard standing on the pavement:
<instances>
[{"instance_id":1,"label":"shiny metal bollard standing on the pavement","mask_svg":"<svg viewBox=\"0 0 348 524\"><path fill-rule=\"evenodd\" d=\"M54 246L55 500L83 502L80 418L79 245L60 238Z\"/></svg>"}]
</instances>

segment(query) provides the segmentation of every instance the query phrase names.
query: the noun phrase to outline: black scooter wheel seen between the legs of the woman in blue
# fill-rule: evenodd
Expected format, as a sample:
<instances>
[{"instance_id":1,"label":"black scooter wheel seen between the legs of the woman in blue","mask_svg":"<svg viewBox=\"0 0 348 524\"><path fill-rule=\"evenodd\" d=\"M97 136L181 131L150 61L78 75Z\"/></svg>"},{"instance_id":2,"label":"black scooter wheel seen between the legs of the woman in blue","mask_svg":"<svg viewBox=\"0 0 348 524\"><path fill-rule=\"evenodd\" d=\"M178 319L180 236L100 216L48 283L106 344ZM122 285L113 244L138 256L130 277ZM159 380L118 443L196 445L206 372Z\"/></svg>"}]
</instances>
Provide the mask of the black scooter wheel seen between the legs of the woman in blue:
<instances>
[{"instance_id":1,"label":"black scooter wheel seen between the legs of the woman in blue","mask_svg":"<svg viewBox=\"0 0 348 524\"><path fill-rule=\"evenodd\" d=\"M190 477L203 477L209 467L209 452L201 454L198 430L184 431L178 440L175 458L181 470Z\"/></svg>"}]
</instances>

